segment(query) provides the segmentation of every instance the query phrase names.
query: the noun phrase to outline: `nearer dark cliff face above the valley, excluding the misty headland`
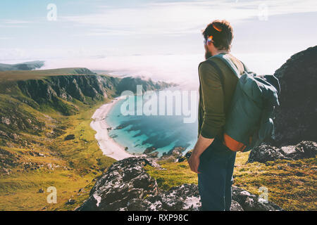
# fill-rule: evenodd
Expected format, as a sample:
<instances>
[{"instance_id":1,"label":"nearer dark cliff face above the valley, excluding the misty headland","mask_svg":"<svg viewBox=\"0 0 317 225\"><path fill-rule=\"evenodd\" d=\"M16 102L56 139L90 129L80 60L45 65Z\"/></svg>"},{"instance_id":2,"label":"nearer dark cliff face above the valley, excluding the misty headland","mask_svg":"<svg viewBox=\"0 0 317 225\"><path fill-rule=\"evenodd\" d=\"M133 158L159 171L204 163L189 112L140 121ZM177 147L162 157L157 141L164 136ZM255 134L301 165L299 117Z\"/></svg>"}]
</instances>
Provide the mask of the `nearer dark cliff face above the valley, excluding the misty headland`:
<instances>
[{"instance_id":1,"label":"nearer dark cliff face above the valley, excluding the misty headland","mask_svg":"<svg viewBox=\"0 0 317 225\"><path fill-rule=\"evenodd\" d=\"M118 78L99 75L62 75L18 81L18 88L39 105L51 105L64 115L71 115L76 108L64 101L100 101L113 95L118 82Z\"/></svg>"}]
</instances>

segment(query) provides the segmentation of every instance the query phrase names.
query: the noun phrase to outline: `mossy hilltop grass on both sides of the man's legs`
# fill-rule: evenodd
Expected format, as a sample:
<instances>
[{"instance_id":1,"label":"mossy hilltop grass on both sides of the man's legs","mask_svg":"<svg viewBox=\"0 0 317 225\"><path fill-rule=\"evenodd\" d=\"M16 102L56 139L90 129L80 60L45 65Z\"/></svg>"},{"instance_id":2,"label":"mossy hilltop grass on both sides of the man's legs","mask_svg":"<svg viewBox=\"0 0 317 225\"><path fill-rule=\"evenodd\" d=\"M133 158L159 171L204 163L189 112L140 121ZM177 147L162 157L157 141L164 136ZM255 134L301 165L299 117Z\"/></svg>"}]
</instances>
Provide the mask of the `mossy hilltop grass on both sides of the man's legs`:
<instances>
[{"instance_id":1,"label":"mossy hilltop grass on both sides of the man's legs","mask_svg":"<svg viewBox=\"0 0 317 225\"><path fill-rule=\"evenodd\" d=\"M235 186L259 195L259 188L268 188L268 200L285 210L317 210L316 158L305 160L277 160L266 164L246 163L249 153L237 153ZM182 184L197 184L197 174L185 162L160 161L163 170L147 165L160 188L168 190Z\"/></svg>"}]
</instances>

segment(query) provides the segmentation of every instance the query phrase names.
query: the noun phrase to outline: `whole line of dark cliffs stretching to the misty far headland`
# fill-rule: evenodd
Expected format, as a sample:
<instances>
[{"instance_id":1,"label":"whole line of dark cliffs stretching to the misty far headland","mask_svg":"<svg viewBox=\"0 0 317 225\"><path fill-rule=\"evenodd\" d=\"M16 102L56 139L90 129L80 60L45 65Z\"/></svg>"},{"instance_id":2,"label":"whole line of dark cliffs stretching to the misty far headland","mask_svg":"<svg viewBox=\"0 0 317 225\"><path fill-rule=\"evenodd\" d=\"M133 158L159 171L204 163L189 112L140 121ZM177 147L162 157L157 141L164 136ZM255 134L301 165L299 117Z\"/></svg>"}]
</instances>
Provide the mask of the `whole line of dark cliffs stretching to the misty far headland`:
<instances>
[{"instance_id":1,"label":"whole line of dark cliffs stretching to the misty far headland","mask_svg":"<svg viewBox=\"0 0 317 225\"><path fill-rule=\"evenodd\" d=\"M151 79L149 81L134 77L120 79L100 75L62 75L18 81L18 87L23 94L39 104L57 101L56 97L65 101L73 101L75 98L85 102L87 97L98 101L114 94L119 95L126 90L136 93L137 85L142 85L144 91L171 86L166 82L152 82Z\"/></svg>"}]
</instances>

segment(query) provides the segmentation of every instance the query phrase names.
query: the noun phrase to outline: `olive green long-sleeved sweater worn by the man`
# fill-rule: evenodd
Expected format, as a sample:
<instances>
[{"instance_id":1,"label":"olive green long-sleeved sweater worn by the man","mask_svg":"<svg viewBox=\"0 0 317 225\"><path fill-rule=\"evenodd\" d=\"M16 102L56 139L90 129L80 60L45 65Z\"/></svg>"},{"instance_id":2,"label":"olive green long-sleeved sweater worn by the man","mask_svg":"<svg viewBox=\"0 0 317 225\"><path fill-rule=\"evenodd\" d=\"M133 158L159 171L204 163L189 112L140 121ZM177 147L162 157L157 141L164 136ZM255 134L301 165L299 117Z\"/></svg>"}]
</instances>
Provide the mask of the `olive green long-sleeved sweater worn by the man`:
<instances>
[{"instance_id":1,"label":"olive green long-sleeved sweater worn by the man","mask_svg":"<svg viewBox=\"0 0 317 225\"><path fill-rule=\"evenodd\" d=\"M244 71L243 64L231 54L228 54L228 56L242 75ZM204 138L214 139L217 135L223 133L225 118L228 115L228 108L238 78L228 65L225 65L219 58L209 58L208 60L217 63L223 72L224 86L220 82L220 75L212 65L206 63L206 61L199 64L198 136L201 134Z\"/></svg>"}]
</instances>

